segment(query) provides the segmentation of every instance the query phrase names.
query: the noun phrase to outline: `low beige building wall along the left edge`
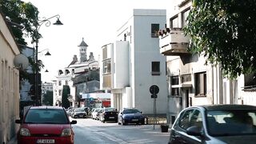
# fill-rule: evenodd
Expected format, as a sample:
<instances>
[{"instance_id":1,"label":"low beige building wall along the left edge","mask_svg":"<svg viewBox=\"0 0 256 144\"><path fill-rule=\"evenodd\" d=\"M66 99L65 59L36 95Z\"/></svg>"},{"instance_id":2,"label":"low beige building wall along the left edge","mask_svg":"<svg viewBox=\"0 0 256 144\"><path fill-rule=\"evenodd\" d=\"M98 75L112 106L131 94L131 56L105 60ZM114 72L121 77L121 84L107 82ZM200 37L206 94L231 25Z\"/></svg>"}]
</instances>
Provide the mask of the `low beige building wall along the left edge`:
<instances>
[{"instance_id":1,"label":"low beige building wall along the left edge","mask_svg":"<svg viewBox=\"0 0 256 144\"><path fill-rule=\"evenodd\" d=\"M14 66L17 56L20 50L0 11L0 143L10 142L18 130L15 119L19 118L20 66Z\"/></svg>"}]
</instances>

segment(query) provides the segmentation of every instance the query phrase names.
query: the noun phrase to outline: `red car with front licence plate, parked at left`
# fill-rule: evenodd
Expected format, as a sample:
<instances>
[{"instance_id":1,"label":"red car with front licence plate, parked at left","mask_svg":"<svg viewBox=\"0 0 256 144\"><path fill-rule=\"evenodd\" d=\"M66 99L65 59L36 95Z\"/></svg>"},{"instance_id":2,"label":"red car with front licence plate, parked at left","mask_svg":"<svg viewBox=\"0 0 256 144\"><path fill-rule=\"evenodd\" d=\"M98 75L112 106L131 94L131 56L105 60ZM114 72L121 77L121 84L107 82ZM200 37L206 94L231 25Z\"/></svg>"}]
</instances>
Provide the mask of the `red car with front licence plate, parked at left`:
<instances>
[{"instance_id":1,"label":"red car with front licence plate, parked at left","mask_svg":"<svg viewBox=\"0 0 256 144\"><path fill-rule=\"evenodd\" d=\"M54 143L73 144L74 131L66 111L58 106L31 106L18 130L18 144Z\"/></svg>"}]
</instances>

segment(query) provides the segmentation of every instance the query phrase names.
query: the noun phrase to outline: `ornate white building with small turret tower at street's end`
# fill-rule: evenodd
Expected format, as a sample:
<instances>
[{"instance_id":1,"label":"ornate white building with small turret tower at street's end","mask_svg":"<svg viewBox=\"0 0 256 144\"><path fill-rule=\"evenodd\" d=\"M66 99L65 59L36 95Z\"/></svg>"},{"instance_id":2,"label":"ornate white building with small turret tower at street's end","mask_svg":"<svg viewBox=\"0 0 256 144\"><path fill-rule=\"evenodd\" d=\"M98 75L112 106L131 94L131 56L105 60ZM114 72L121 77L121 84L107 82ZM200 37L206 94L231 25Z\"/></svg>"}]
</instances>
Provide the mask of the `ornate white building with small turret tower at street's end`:
<instances>
[{"instance_id":1,"label":"ornate white building with small turret tower at street's end","mask_svg":"<svg viewBox=\"0 0 256 144\"><path fill-rule=\"evenodd\" d=\"M79 47L79 56L80 59L78 61L77 55L74 55L72 62L61 70L58 70L58 75L56 76L56 80L54 80L54 104L60 106L62 102L62 90L63 86L70 86L70 106L78 106L79 92L76 90L76 86L74 86L73 79L79 74L86 73L90 70L98 70L98 61L95 61L93 53L90 53L89 58L87 58L87 47L88 45L84 42L82 38L82 42ZM82 94L81 94L82 96Z\"/></svg>"}]
</instances>

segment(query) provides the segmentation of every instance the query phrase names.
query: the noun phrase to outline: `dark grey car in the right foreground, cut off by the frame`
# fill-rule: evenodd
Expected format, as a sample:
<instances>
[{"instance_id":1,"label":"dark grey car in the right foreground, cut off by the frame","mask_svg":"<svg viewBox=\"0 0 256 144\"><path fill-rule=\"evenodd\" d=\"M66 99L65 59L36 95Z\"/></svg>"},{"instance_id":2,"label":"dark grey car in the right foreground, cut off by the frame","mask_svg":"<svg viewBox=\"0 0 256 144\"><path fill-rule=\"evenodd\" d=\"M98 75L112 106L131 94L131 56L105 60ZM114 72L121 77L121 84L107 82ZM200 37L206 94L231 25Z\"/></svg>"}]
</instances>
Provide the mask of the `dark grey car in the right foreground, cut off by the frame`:
<instances>
[{"instance_id":1,"label":"dark grey car in the right foreground, cut off by the frame","mask_svg":"<svg viewBox=\"0 0 256 144\"><path fill-rule=\"evenodd\" d=\"M256 106L191 106L178 114L170 144L255 143Z\"/></svg>"}]
</instances>

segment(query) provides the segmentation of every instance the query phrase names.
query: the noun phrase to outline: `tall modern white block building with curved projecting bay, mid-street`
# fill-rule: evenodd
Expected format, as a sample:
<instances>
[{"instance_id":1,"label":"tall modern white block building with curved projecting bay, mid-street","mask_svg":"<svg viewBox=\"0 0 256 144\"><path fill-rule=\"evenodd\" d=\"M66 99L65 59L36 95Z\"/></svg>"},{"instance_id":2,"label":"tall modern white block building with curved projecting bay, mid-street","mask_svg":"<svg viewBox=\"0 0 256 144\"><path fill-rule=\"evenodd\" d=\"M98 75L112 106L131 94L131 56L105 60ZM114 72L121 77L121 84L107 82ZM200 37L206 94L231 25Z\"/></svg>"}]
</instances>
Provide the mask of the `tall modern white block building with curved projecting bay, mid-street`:
<instances>
[{"instance_id":1,"label":"tall modern white block building with curved projecting bay, mid-street","mask_svg":"<svg viewBox=\"0 0 256 144\"><path fill-rule=\"evenodd\" d=\"M166 58L158 49L158 30L165 24L166 10L134 9L116 42L102 46L101 89L111 90L111 106L154 114L150 86L157 85L157 114L167 113Z\"/></svg>"}]
</instances>

